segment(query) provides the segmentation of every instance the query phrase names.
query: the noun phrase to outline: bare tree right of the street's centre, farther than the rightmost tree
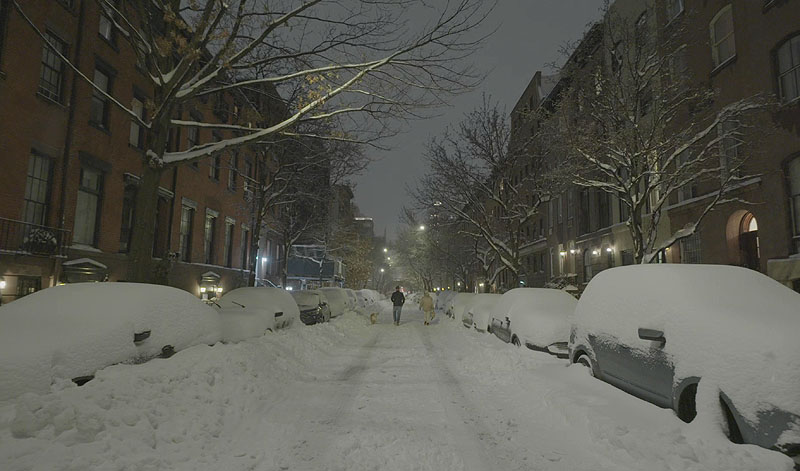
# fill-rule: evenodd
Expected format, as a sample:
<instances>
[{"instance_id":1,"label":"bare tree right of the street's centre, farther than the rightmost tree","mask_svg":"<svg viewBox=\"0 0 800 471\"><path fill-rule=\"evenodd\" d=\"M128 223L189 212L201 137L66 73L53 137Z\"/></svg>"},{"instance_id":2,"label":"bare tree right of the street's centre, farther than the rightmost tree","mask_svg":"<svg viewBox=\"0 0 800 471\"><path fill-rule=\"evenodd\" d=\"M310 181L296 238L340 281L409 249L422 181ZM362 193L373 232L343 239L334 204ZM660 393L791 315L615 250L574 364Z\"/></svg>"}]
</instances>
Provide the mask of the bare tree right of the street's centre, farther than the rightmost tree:
<instances>
[{"instance_id":1,"label":"bare tree right of the street's centre, farther than the rightmost tree","mask_svg":"<svg viewBox=\"0 0 800 471\"><path fill-rule=\"evenodd\" d=\"M519 281L520 252L532 242L525 229L558 183L546 178L543 156L527 144L511 147L505 113L484 99L454 130L429 143L429 173L412 191L420 209L440 208L452 216L444 224L478 241L476 254L491 267L490 283L503 270L515 285Z\"/></svg>"}]
</instances>

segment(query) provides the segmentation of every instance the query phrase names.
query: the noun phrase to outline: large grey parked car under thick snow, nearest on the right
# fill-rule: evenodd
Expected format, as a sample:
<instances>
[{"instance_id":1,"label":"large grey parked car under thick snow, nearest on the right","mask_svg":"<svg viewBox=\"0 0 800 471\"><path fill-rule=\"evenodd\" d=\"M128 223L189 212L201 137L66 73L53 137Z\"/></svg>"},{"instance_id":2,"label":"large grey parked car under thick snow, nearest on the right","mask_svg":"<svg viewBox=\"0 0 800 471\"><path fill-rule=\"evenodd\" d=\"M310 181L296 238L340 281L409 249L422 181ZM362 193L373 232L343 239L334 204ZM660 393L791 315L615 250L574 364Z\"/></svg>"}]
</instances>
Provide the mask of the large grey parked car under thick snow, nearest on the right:
<instances>
[{"instance_id":1,"label":"large grey parked car under thick snow, nearest on the right","mask_svg":"<svg viewBox=\"0 0 800 471\"><path fill-rule=\"evenodd\" d=\"M569 350L595 377L686 422L719 408L731 440L796 455L798 332L800 294L759 272L634 265L592 279ZM719 394L698 395L698 384Z\"/></svg>"}]
</instances>

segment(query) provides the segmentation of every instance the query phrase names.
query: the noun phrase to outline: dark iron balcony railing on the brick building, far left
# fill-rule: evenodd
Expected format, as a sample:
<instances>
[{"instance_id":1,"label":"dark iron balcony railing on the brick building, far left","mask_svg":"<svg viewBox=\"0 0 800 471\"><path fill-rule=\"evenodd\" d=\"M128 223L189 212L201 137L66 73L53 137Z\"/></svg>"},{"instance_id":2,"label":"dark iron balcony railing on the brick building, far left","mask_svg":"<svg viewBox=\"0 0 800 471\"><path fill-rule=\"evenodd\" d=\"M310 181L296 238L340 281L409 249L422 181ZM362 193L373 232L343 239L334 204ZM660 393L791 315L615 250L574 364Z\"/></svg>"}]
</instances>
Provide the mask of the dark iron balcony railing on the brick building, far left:
<instances>
[{"instance_id":1,"label":"dark iron balcony railing on the brick building, far left","mask_svg":"<svg viewBox=\"0 0 800 471\"><path fill-rule=\"evenodd\" d=\"M0 218L0 252L64 257L68 244L65 229Z\"/></svg>"}]
</instances>

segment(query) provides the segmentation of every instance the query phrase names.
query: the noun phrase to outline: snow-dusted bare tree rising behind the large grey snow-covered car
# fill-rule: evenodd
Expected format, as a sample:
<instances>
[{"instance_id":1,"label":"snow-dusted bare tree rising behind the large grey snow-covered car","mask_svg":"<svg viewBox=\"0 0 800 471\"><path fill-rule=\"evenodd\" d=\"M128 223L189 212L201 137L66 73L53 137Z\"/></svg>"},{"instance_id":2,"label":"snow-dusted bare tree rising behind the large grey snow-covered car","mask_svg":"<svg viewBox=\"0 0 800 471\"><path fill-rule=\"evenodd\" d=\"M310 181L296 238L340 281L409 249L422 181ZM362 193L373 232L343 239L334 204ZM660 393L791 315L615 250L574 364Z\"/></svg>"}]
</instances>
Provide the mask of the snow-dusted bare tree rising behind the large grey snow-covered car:
<instances>
[{"instance_id":1,"label":"snow-dusted bare tree rising behind the large grey snow-covered car","mask_svg":"<svg viewBox=\"0 0 800 471\"><path fill-rule=\"evenodd\" d=\"M767 105L751 97L715 109L714 90L689 84L686 33L655 24L607 4L562 68L558 103L537 136L575 184L620 202L637 263L738 201L736 188L752 177L746 156L757 148L742 135ZM664 211L695 199L694 222L665 234Z\"/></svg>"}]
</instances>

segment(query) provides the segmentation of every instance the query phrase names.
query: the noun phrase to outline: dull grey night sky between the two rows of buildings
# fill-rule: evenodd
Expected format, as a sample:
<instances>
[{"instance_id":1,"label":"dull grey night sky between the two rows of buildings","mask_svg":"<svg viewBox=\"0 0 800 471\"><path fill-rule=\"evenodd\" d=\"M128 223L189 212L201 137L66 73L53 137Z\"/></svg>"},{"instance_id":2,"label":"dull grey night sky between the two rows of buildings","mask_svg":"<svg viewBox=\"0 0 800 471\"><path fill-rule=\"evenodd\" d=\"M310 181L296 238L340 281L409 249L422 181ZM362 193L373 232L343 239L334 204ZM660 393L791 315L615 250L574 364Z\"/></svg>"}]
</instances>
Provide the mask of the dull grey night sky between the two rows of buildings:
<instances>
[{"instance_id":1,"label":"dull grey night sky between the two rows of buildings","mask_svg":"<svg viewBox=\"0 0 800 471\"><path fill-rule=\"evenodd\" d=\"M489 19L498 30L474 56L475 65L489 73L484 83L456 97L440 116L411 122L408 132L386 142L392 150L372 150L377 161L353 179L355 202L365 216L375 219L377 235L386 227L391 238L400 209L410 204L406 187L416 185L425 172L422 152L428 139L479 105L483 93L510 112L533 74L551 73L548 64L561 60L560 47L580 39L587 25L600 18L602 4L602 0L499 0Z\"/></svg>"}]
</instances>

